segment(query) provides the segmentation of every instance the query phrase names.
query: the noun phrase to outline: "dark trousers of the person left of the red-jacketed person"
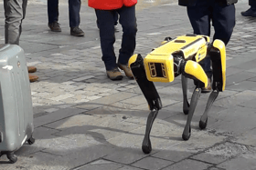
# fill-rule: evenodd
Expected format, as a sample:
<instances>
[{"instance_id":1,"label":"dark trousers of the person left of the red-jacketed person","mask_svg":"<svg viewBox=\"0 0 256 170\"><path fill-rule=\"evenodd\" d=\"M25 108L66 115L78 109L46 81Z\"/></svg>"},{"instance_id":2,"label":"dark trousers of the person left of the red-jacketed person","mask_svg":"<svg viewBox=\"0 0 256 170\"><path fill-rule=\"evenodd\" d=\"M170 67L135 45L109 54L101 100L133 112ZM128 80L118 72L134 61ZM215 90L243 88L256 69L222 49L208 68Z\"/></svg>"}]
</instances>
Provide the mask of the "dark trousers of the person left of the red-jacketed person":
<instances>
[{"instance_id":1,"label":"dark trousers of the person left of the red-jacketed person","mask_svg":"<svg viewBox=\"0 0 256 170\"><path fill-rule=\"evenodd\" d=\"M59 20L59 0L48 0L48 23ZM69 0L69 26L80 25L80 0Z\"/></svg>"}]
</instances>

